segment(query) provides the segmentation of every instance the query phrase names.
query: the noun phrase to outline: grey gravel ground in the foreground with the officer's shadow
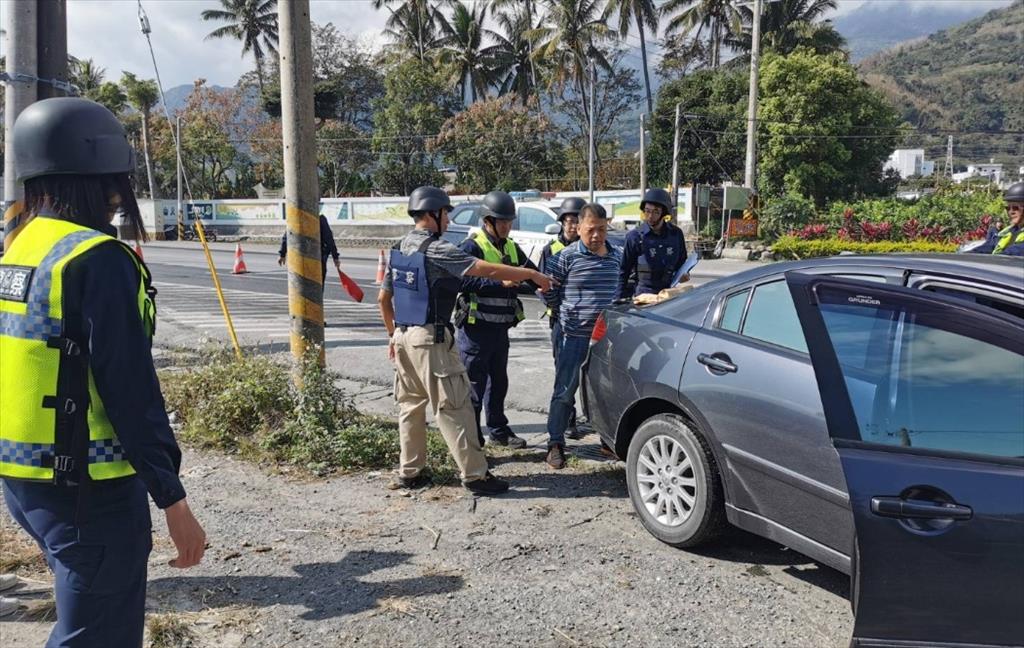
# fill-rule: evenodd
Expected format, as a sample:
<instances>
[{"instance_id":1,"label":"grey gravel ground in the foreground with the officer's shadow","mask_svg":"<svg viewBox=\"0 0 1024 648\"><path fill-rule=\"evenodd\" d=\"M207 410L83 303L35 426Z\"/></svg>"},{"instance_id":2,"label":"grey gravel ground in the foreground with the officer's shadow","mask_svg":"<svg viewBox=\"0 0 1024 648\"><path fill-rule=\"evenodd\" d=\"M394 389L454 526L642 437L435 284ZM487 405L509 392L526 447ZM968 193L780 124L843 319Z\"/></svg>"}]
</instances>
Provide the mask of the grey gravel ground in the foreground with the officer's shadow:
<instances>
[{"instance_id":1,"label":"grey gravel ground in the foreground with the officer's shadow","mask_svg":"<svg viewBox=\"0 0 1024 648\"><path fill-rule=\"evenodd\" d=\"M191 636L162 647L846 645L843 574L740 531L698 552L663 545L636 519L622 464L554 473L540 447L494 462L514 490L474 500L186 450L211 546L201 566L168 567L155 512L150 611ZM41 645L47 629L4 622L0 645Z\"/></svg>"}]
</instances>

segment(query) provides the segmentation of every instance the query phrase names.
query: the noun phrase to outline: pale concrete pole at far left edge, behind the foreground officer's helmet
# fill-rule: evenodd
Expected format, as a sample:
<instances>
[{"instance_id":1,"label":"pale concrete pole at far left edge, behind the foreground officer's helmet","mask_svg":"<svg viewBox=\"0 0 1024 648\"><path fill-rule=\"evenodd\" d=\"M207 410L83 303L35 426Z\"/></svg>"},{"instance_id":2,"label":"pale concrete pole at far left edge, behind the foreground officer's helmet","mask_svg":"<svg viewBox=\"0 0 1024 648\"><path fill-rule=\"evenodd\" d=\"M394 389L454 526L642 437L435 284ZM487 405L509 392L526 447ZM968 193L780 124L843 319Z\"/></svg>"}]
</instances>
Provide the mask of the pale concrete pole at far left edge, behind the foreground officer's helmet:
<instances>
[{"instance_id":1,"label":"pale concrete pole at far left edge, behind the foreground officer's helmet","mask_svg":"<svg viewBox=\"0 0 1024 648\"><path fill-rule=\"evenodd\" d=\"M26 75L32 79L39 75L37 61L38 51L36 30L38 26L38 6L36 0L24 2L6 2L7 74L12 78ZM30 103L36 100L35 81L11 81L4 87L4 165L3 165L3 197L4 197L4 248L10 245L15 230L22 224L20 205L14 205L24 196L23 187L17 182L17 171L14 168L14 147L11 131L14 121Z\"/></svg>"}]
</instances>

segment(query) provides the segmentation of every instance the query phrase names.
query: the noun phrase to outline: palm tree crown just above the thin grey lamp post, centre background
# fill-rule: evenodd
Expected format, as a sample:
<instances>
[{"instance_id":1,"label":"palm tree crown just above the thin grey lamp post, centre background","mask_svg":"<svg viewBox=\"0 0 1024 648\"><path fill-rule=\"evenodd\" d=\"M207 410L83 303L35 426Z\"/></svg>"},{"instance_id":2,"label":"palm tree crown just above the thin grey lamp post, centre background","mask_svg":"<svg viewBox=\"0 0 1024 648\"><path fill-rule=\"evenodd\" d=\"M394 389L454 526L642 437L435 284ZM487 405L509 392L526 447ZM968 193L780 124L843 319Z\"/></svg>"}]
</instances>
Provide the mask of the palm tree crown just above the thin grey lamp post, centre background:
<instances>
[{"instance_id":1,"label":"palm tree crown just above the thin grey lamp post, centre background","mask_svg":"<svg viewBox=\"0 0 1024 648\"><path fill-rule=\"evenodd\" d=\"M610 30L598 8L600 0L548 0L548 15L543 27L527 36L539 41L534 59L551 67L549 87L564 88L573 83L583 99L585 115L590 115L587 97L588 67L609 70L611 64L598 47Z\"/></svg>"}]
</instances>

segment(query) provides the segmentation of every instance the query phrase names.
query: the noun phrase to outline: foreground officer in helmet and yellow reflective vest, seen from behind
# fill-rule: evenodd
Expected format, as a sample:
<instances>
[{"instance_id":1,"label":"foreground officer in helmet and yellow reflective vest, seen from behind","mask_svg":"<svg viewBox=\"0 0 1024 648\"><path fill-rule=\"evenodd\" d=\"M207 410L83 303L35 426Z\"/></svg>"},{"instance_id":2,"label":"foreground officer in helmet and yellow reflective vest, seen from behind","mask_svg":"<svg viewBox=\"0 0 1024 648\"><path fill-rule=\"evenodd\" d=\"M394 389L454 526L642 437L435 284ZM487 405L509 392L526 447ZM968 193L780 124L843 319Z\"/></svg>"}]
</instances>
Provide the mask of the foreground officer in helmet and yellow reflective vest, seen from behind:
<instances>
[{"instance_id":1,"label":"foreground officer in helmet and yellow reflective vest, seen from behind","mask_svg":"<svg viewBox=\"0 0 1024 648\"><path fill-rule=\"evenodd\" d=\"M54 574L47 646L142 645L146 492L167 516L176 567L206 536L178 479L151 354L150 272L115 239L142 219L121 124L92 101L27 107L12 131L28 224L0 259L0 477L11 516Z\"/></svg>"}]
</instances>

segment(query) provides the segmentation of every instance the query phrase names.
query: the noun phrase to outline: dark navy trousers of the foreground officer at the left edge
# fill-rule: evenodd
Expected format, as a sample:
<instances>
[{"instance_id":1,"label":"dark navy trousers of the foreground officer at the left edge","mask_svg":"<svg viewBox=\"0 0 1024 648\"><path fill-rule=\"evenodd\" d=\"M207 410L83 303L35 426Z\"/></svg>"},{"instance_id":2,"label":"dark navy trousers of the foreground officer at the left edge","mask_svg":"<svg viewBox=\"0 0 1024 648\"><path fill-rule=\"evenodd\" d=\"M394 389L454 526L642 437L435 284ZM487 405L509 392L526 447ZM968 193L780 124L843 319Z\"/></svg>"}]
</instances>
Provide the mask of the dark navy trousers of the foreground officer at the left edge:
<instances>
[{"instance_id":1,"label":"dark navy trousers of the foreground officer at the left edge","mask_svg":"<svg viewBox=\"0 0 1024 648\"><path fill-rule=\"evenodd\" d=\"M79 520L78 488L5 479L3 491L53 572L57 620L46 648L140 648L153 549L141 480L92 482Z\"/></svg>"}]
</instances>

